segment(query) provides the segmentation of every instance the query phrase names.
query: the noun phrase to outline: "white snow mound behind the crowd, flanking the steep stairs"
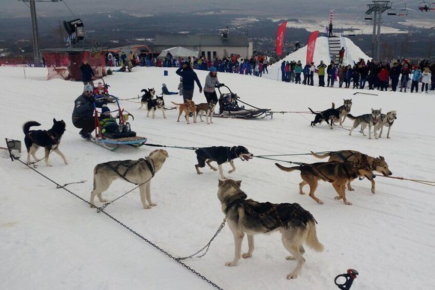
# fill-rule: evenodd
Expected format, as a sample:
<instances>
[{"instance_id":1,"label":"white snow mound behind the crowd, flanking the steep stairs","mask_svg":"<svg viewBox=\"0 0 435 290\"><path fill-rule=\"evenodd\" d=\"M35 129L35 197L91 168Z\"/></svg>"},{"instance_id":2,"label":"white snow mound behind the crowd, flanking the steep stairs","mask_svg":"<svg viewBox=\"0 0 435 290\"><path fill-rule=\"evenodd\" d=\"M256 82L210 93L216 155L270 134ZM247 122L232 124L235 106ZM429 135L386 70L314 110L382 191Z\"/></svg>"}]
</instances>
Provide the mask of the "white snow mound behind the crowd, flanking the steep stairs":
<instances>
[{"instance_id":1,"label":"white snow mound behind the crowd, flanking the steep stairs","mask_svg":"<svg viewBox=\"0 0 435 290\"><path fill-rule=\"evenodd\" d=\"M351 64L353 66L353 62L356 63L360 59L364 59L365 61L371 59L371 57L367 56L367 54L365 54L361 50L361 48L355 45L350 38L342 37L341 39L342 39L342 46L344 46L346 49L343 58L344 64ZM304 66L306 64L306 59L307 59L307 46L303 46L301 49L298 49L295 52L292 52L286 57L284 57L283 60L286 62L301 61L302 65ZM316 66L318 66L320 64L320 61L323 61L323 63L326 65L330 63L328 37L325 36L318 37L317 41L315 42L313 62ZM281 61L274 63L272 67L281 67Z\"/></svg>"}]
</instances>

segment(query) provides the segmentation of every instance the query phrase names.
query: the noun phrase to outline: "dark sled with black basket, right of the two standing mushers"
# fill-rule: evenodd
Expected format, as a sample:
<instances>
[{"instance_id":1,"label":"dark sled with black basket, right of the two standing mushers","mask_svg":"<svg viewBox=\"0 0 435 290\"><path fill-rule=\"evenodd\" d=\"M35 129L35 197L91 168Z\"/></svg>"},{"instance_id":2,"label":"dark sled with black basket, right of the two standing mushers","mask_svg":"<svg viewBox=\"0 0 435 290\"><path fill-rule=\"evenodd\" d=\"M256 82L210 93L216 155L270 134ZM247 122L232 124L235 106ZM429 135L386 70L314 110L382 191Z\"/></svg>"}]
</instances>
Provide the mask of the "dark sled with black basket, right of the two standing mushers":
<instances>
[{"instance_id":1,"label":"dark sled with black basket, right of the two standing mushers","mask_svg":"<svg viewBox=\"0 0 435 290\"><path fill-rule=\"evenodd\" d=\"M220 93L219 97L219 114L214 114L214 117L221 118L239 118L239 119L250 119L250 118L265 118L271 116L273 112L271 109L261 109L254 107L248 103L240 100L240 96L233 93L231 89L227 86L222 86L228 89L229 92L221 92L221 87L217 88ZM244 104L239 106L239 102Z\"/></svg>"}]
</instances>

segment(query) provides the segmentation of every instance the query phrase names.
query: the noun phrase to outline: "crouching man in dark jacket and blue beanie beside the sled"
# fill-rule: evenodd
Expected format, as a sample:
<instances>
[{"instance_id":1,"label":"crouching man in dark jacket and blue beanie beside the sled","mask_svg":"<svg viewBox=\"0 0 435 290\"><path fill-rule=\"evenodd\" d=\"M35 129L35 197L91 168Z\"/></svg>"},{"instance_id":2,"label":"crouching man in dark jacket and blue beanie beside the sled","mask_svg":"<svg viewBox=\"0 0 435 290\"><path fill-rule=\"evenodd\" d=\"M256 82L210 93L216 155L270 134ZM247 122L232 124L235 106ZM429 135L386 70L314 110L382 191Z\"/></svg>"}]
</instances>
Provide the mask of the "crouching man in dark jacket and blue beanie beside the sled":
<instances>
[{"instance_id":1,"label":"crouching man in dark jacket and blue beanie beside the sled","mask_svg":"<svg viewBox=\"0 0 435 290\"><path fill-rule=\"evenodd\" d=\"M79 134L85 139L91 138L91 133L95 130L94 103L93 88L87 84L83 93L74 101L74 110L72 111L72 124L74 127L82 129ZM103 103L96 102L95 106L101 108Z\"/></svg>"}]
</instances>

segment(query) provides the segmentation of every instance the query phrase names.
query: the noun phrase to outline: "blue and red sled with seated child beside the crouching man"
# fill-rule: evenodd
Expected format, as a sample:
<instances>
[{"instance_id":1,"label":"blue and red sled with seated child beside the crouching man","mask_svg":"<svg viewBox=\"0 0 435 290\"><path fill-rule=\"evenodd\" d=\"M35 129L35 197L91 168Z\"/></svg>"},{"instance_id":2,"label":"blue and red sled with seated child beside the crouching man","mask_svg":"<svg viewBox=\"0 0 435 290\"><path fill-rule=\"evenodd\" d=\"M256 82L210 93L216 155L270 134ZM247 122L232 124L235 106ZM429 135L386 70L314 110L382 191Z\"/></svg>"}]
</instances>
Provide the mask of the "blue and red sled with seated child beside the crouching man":
<instances>
[{"instance_id":1,"label":"blue and red sled with seated child beside the crouching man","mask_svg":"<svg viewBox=\"0 0 435 290\"><path fill-rule=\"evenodd\" d=\"M102 97L101 97L102 98ZM115 98L117 104L117 109L113 112L117 112L115 119L118 119L118 128L121 128L118 132L105 132L100 124L100 119L98 118L98 111L94 105L94 118L95 118L95 137L88 139L90 142L103 147L110 151L115 151L120 148L121 145L128 145L132 147L141 147L147 142L146 137L136 136L136 132L131 130L131 125L128 122L129 117L134 116L128 111L121 109L118 99ZM111 111L112 112L112 111Z\"/></svg>"}]
</instances>

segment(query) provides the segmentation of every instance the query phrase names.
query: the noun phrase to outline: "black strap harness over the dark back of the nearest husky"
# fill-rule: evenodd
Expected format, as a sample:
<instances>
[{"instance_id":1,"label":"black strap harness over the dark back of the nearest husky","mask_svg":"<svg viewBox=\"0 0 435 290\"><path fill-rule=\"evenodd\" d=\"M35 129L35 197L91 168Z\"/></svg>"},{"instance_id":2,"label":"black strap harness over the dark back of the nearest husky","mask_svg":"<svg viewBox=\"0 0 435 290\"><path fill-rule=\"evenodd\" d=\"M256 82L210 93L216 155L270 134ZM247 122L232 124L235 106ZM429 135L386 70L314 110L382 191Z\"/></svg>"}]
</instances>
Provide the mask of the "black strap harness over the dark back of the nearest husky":
<instances>
[{"instance_id":1,"label":"black strap harness over the dark back of the nearest husky","mask_svg":"<svg viewBox=\"0 0 435 290\"><path fill-rule=\"evenodd\" d=\"M246 194L235 197L228 203L225 214L232 207L243 207L248 215L253 217L267 230L265 233L279 227L300 227L305 226L309 221L317 221L308 210L302 208L298 203L280 203L256 202L252 199L246 199Z\"/></svg>"}]
</instances>

